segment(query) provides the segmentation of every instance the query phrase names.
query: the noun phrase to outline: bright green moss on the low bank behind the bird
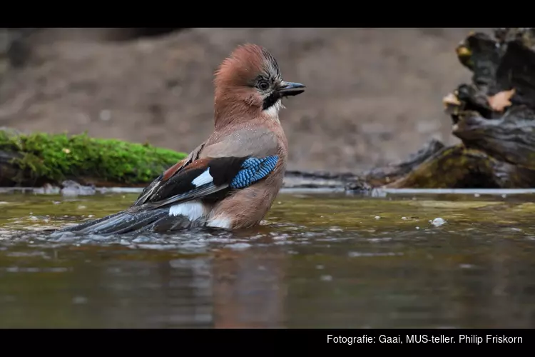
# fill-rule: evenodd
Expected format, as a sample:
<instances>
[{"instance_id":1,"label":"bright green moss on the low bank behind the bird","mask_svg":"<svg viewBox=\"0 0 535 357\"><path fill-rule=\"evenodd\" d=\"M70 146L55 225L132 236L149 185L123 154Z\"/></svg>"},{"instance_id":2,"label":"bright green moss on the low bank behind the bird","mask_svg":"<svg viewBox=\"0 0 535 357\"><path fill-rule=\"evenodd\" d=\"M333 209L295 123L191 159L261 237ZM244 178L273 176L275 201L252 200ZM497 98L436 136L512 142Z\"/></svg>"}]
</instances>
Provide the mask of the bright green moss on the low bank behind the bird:
<instances>
[{"instance_id":1,"label":"bright green moss on the low bank behind the bird","mask_svg":"<svg viewBox=\"0 0 535 357\"><path fill-rule=\"evenodd\" d=\"M33 178L59 182L90 177L123 184L148 183L187 154L149 144L94 139L87 134L16 134L0 130L0 151L21 154L14 164Z\"/></svg>"}]
</instances>

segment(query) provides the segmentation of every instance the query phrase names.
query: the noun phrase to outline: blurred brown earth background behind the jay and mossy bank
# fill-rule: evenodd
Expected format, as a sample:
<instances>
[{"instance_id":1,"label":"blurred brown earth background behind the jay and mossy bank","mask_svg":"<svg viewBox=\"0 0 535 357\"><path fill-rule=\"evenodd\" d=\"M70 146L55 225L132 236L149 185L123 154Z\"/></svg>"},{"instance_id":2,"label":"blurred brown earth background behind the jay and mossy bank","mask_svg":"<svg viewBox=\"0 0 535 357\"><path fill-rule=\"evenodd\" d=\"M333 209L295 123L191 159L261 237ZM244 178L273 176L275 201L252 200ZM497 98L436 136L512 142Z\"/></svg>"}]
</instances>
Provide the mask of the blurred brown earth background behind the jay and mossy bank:
<instances>
[{"instance_id":1,"label":"blurred brown earth background behind the jay and mossy bank","mask_svg":"<svg viewBox=\"0 0 535 357\"><path fill-rule=\"evenodd\" d=\"M260 44L307 86L280 114L292 170L360 171L452 144L455 54L490 29L0 29L0 126L190 151L213 129L213 72Z\"/></svg>"}]
</instances>

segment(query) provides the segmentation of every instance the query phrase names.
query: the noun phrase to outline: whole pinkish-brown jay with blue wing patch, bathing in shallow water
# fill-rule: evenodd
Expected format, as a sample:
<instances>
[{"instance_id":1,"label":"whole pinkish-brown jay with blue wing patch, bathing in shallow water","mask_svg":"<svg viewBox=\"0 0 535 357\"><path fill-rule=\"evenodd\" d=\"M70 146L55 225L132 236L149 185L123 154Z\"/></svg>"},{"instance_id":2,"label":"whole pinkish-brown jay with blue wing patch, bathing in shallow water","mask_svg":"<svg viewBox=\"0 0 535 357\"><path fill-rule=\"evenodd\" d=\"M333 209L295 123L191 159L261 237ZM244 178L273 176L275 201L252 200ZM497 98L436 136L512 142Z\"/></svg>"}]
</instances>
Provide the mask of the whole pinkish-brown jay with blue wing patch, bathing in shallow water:
<instances>
[{"instance_id":1,"label":"whole pinkish-brown jay with blue wing patch, bathing in shallow water","mask_svg":"<svg viewBox=\"0 0 535 357\"><path fill-rule=\"evenodd\" d=\"M92 234L248 228L260 223L282 186L287 139L282 99L305 91L284 81L275 58L238 46L215 71L214 130L143 189L124 211L56 231Z\"/></svg>"}]
</instances>

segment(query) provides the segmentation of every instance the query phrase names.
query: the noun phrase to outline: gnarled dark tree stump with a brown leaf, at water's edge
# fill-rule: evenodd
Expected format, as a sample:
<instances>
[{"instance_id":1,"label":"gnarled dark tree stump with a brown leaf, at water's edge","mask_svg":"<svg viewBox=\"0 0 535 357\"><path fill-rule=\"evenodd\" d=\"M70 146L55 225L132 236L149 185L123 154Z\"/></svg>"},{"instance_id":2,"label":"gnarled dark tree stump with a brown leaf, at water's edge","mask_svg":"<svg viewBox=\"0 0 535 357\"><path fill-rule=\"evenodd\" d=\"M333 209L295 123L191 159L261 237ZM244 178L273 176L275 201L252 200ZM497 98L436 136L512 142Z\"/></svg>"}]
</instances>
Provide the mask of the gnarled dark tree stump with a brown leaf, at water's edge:
<instances>
[{"instance_id":1,"label":"gnarled dark tree stump with a brown leaf, at water's edge","mask_svg":"<svg viewBox=\"0 0 535 357\"><path fill-rule=\"evenodd\" d=\"M472 83L444 105L462 144L428 144L401 164L366 173L389 188L535 187L535 29L469 34L457 46Z\"/></svg>"}]
</instances>

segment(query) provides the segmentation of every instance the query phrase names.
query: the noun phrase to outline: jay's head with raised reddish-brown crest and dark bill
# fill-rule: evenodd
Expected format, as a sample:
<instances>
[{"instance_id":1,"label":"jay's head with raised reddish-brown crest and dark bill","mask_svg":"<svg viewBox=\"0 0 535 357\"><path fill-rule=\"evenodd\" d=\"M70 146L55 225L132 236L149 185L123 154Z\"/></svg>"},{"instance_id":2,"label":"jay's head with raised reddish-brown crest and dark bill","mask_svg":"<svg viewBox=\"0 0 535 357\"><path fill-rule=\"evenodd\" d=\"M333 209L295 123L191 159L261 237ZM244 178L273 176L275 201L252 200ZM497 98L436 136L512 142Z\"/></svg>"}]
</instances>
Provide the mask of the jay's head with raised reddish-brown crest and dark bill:
<instances>
[{"instance_id":1,"label":"jay's head with raised reddish-brown crest and dark bill","mask_svg":"<svg viewBox=\"0 0 535 357\"><path fill-rule=\"evenodd\" d=\"M282 98L305 91L284 81L275 57L255 44L238 46L215 72L214 84L216 123L263 113L278 118Z\"/></svg>"}]
</instances>

